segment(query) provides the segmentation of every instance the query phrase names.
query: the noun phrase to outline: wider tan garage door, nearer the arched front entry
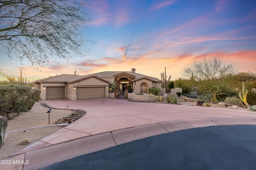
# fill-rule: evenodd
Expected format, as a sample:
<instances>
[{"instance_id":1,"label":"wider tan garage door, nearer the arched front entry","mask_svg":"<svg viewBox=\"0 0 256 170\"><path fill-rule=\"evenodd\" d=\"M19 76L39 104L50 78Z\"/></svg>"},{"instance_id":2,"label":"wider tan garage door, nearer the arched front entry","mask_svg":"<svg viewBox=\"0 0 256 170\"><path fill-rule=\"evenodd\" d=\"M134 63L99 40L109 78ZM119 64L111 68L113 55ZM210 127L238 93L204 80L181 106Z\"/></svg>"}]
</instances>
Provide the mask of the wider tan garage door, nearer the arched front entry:
<instances>
[{"instance_id":1,"label":"wider tan garage door, nearer the arched front entry","mask_svg":"<svg viewBox=\"0 0 256 170\"><path fill-rule=\"evenodd\" d=\"M105 87L78 87L76 88L76 99L104 98Z\"/></svg>"}]
</instances>

